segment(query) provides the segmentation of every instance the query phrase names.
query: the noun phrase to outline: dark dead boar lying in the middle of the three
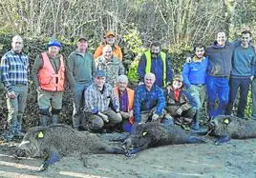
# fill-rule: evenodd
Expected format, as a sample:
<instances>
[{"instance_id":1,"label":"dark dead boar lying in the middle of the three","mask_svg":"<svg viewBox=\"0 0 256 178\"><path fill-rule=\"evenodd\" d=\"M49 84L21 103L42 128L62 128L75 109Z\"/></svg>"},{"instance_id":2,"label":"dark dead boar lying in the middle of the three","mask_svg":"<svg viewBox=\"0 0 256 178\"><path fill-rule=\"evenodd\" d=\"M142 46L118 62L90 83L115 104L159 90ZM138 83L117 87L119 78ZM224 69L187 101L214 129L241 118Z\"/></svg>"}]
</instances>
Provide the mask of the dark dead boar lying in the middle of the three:
<instances>
[{"instance_id":1,"label":"dark dead boar lying in the middle of the three","mask_svg":"<svg viewBox=\"0 0 256 178\"><path fill-rule=\"evenodd\" d=\"M201 144L205 141L200 137L190 136L178 126L165 126L157 122L138 125L131 135L123 141L127 155L151 147L174 144Z\"/></svg>"}]
</instances>

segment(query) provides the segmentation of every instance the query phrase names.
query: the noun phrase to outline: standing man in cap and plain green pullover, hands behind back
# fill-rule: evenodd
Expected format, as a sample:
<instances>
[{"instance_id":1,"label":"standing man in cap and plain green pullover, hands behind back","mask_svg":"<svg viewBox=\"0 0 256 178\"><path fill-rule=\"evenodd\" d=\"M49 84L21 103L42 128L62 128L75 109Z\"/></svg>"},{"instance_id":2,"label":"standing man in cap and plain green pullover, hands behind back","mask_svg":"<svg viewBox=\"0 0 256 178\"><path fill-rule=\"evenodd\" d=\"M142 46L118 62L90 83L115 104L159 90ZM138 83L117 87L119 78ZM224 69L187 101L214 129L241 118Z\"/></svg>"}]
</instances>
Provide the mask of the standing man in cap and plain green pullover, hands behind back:
<instances>
[{"instance_id":1,"label":"standing man in cap and plain green pullover, hands behind back","mask_svg":"<svg viewBox=\"0 0 256 178\"><path fill-rule=\"evenodd\" d=\"M77 41L77 49L68 57L66 70L66 76L73 91L73 126L76 130L85 125L82 111L84 91L93 83L95 68L94 56L88 51L88 41L85 37L81 37Z\"/></svg>"}]
</instances>

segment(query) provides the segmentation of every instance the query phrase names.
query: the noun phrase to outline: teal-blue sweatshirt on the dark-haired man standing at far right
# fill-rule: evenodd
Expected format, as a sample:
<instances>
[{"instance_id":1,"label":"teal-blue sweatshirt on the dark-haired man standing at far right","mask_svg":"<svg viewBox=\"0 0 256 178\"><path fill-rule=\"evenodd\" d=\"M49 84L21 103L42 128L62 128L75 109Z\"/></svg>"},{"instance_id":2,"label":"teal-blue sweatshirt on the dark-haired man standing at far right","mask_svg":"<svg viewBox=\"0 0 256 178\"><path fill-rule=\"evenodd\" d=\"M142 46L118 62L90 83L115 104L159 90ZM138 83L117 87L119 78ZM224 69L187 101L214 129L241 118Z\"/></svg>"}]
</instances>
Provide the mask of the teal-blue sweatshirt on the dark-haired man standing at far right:
<instances>
[{"instance_id":1,"label":"teal-blue sweatshirt on the dark-haired man standing at far right","mask_svg":"<svg viewBox=\"0 0 256 178\"><path fill-rule=\"evenodd\" d=\"M241 43L240 43L241 44ZM232 57L231 77L249 77L254 75L254 64L256 60L255 49L249 46L244 49L240 45L235 47Z\"/></svg>"}]
</instances>

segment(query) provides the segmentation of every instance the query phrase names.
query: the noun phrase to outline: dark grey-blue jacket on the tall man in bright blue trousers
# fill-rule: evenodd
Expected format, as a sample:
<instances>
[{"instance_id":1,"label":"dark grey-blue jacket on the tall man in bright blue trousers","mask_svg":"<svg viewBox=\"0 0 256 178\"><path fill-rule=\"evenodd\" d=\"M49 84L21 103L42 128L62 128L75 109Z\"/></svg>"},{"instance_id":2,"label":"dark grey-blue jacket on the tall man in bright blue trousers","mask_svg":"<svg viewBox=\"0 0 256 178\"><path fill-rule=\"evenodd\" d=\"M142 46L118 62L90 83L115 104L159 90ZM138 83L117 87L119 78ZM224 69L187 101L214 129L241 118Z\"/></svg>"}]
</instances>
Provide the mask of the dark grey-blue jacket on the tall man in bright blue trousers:
<instances>
[{"instance_id":1,"label":"dark grey-blue jacket on the tall man in bright blue trousers","mask_svg":"<svg viewBox=\"0 0 256 178\"><path fill-rule=\"evenodd\" d=\"M209 58L207 74L211 76L228 77L232 69L232 54L234 45L226 43L224 47L219 47L217 42L206 49Z\"/></svg>"}]
</instances>

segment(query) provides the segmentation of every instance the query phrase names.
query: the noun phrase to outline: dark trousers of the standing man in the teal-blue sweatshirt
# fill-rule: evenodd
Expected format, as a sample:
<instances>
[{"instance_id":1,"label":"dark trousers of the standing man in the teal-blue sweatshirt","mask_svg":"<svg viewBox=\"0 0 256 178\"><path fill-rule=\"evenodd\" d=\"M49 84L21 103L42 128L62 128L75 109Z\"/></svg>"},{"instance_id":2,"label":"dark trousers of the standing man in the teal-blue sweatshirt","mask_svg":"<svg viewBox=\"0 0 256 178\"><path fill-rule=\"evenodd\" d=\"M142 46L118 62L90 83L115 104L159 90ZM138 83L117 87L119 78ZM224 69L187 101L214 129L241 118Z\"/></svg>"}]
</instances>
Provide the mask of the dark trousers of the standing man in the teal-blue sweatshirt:
<instances>
[{"instance_id":1,"label":"dark trousers of the standing man in the teal-blue sweatshirt","mask_svg":"<svg viewBox=\"0 0 256 178\"><path fill-rule=\"evenodd\" d=\"M240 98L237 109L237 116L245 117L245 107L247 104L247 95L250 86L250 77L246 78L230 78L229 79L229 102L225 109L225 114L230 115L232 113L233 104L236 99L237 91L240 88Z\"/></svg>"}]
</instances>

